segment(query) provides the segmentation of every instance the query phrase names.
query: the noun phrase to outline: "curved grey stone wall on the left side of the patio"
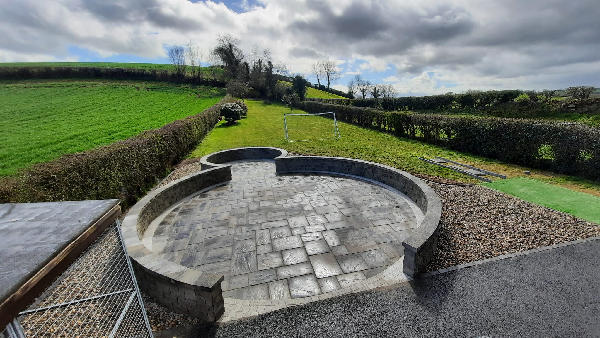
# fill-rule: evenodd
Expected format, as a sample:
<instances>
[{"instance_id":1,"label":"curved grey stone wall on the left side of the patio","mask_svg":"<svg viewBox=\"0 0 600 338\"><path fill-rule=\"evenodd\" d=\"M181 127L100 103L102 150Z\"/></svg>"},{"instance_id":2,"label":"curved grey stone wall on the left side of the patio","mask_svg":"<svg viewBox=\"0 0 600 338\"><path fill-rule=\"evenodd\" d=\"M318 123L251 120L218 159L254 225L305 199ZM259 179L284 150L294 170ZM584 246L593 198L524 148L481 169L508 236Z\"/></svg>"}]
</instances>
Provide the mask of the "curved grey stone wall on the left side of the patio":
<instances>
[{"instance_id":1,"label":"curved grey stone wall on the left side of the patio","mask_svg":"<svg viewBox=\"0 0 600 338\"><path fill-rule=\"evenodd\" d=\"M231 166L182 177L154 190L128 212L121 228L140 288L171 310L216 321L224 313L222 274L193 270L149 250L141 238L152 220L173 204L202 189L231 180Z\"/></svg>"}]
</instances>

